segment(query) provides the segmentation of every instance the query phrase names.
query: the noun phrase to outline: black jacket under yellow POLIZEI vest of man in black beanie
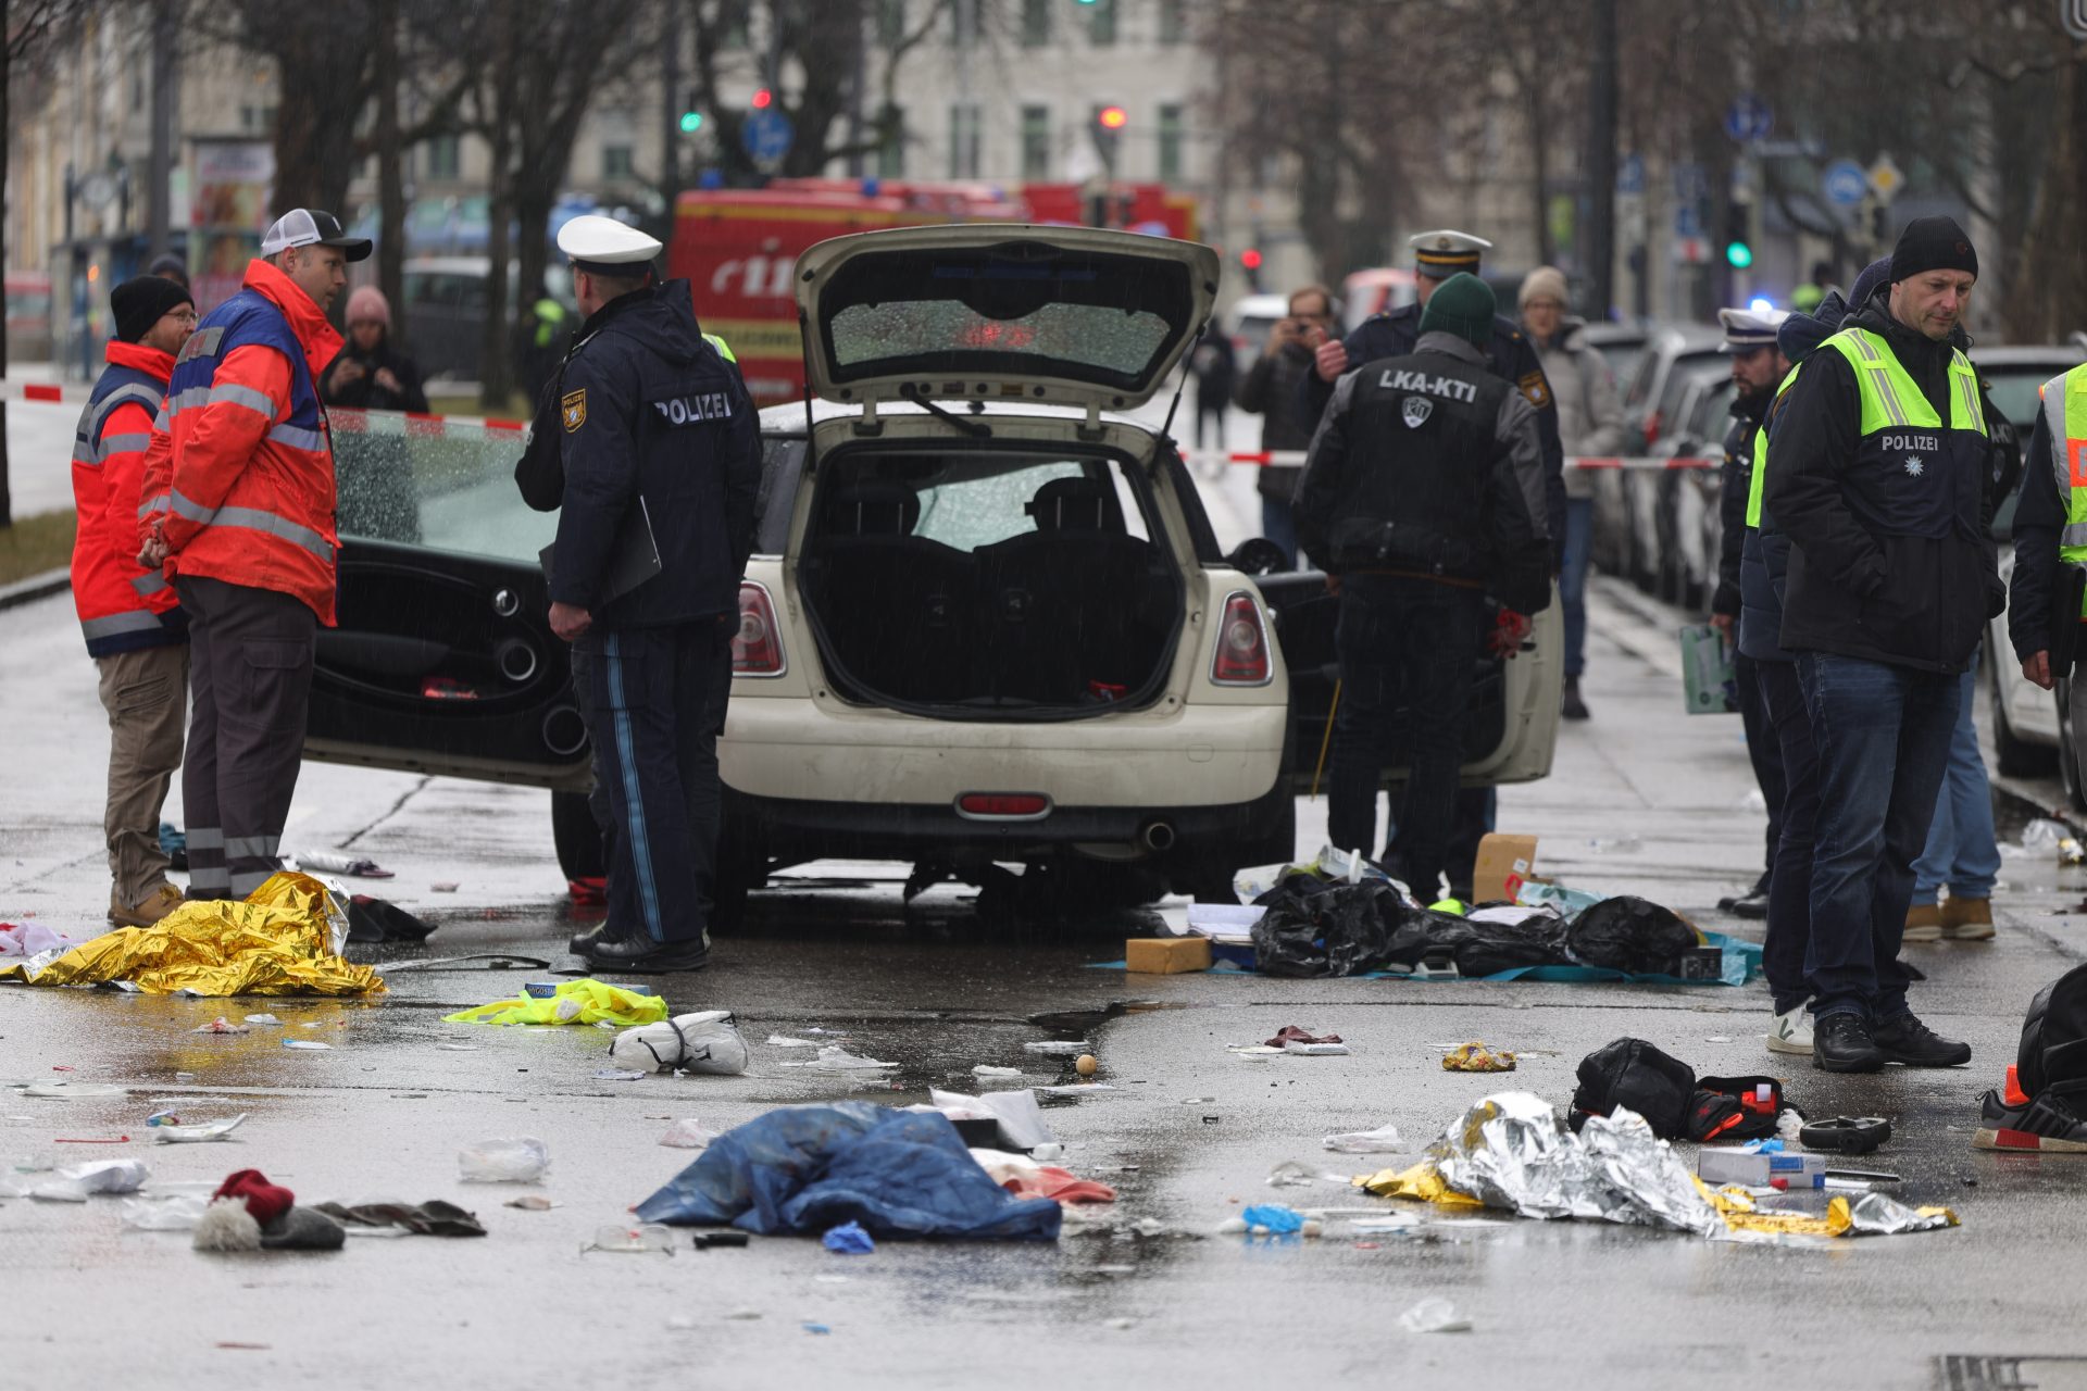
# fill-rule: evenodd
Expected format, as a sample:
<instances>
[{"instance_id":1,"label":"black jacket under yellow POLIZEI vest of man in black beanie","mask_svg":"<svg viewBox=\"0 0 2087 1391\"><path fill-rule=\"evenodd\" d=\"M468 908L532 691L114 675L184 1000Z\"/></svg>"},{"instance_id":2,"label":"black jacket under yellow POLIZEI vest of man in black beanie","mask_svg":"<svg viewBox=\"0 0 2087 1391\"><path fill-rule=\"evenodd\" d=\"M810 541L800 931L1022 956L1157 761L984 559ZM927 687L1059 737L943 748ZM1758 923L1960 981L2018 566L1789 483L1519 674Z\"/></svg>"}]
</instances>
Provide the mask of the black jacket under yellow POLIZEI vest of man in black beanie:
<instances>
[{"instance_id":1,"label":"black jacket under yellow POLIZEI vest of man in black beanie","mask_svg":"<svg viewBox=\"0 0 2087 1391\"><path fill-rule=\"evenodd\" d=\"M1882 309L1882 296L1843 323L1885 338L1928 405L1949 419L1951 344L1930 342ZM1962 672L2006 590L1985 536L1987 459L1924 482L1857 471L1862 396L1855 369L1820 348L1797 373L1770 440L1768 507L1793 542L1782 596L1782 646L1837 653L1922 672ZM1885 494L1891 494L1887 503ZM1924 509L1926 534L1885 532L1864 513Z\"/></svg>"}]
</instances>

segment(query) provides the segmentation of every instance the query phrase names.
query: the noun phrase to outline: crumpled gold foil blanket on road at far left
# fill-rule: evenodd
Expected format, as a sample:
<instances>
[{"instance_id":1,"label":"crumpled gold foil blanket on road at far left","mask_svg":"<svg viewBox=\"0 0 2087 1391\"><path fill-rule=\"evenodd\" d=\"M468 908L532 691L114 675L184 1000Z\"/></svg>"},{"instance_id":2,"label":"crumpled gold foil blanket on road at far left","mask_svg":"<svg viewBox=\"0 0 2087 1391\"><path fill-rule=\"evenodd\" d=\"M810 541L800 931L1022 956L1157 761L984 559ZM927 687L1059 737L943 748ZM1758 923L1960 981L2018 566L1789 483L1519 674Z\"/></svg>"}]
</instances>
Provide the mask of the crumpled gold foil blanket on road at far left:
<instances>
[{"instance_id":1,"label":"crumpled gold foil blanket on road at far left","mask_svg":"<svg viewBox=\"0 0 2087 1391\"><path fill-rule=\"evenodd\" d=\"M150 928L104 932L42 966L15 961L0 980L123 982L146 995L382 995L371 968L334 953L328 907L317 880L280 872L244 903L184 903Z\"/></svg>"}]
</instances>

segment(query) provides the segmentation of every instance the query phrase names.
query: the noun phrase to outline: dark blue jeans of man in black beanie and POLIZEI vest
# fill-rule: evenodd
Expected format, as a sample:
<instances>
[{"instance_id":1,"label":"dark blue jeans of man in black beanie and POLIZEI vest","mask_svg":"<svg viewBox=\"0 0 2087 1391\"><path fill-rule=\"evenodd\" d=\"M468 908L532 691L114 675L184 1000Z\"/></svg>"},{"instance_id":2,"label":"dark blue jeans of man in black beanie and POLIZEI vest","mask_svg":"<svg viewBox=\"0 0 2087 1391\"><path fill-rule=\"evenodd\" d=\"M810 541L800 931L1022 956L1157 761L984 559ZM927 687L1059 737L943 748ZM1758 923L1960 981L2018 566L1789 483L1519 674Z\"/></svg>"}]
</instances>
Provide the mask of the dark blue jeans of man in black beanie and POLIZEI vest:
<instances>
[{"instance_id":1,"label":"dark blue jeans of man in black beanie and POLIZEI vest","mask_svg":"<svg viewBox=\"0 0 2087 1391\"><path fill-rule=\"evenodd\" d=\"M1914 857L1941 795L1960 682L1882 661L1799 653L1820 759L1812 855L1812 1014L1905 1014L1899 963Z\"/></svg>"}]
</instances>

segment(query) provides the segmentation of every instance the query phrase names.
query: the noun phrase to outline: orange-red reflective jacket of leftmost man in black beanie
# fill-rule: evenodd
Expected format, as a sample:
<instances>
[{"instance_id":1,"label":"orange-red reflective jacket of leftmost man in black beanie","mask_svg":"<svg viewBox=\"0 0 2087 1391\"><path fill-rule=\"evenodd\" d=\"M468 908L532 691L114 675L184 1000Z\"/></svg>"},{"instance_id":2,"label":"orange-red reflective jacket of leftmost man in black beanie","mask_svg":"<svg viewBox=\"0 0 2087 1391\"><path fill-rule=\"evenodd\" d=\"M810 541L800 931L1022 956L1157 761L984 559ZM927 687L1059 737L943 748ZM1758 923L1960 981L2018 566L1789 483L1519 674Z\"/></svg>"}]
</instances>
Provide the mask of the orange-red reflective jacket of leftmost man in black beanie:
<instances>
[{"instance_id":1,"label":"orange-red reflective jacket of leftmost man in black beanie","mask_svg":"<svg viewBox=\"0 0 2087 1391\"><path fill-rule=\"evenodd\" d=\"M188 640L173 588L138 565L138 498L173 357L111 342L73 438L73 609L90 657Z\"/></svg>"}]
</instances>

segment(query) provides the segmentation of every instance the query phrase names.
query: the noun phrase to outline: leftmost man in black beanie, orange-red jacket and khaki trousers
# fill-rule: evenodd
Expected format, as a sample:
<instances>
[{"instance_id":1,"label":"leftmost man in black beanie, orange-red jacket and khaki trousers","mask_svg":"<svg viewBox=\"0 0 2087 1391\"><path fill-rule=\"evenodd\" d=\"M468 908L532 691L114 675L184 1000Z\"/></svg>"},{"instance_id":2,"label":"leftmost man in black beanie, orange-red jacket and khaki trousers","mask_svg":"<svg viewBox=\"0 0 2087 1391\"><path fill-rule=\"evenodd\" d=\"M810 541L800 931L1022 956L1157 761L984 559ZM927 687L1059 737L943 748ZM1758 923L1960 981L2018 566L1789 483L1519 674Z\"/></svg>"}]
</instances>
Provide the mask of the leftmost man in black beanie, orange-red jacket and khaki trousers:
<instances>
[{"instance_id":1,"label":"leftmost man in black beanie, orange-red jacket and khaki trousers","mask_svg":"<svg viewBox=\"0 0 2087 1391\"><path fill-rule=\"evenodd\" d=\"M138 563L138 503L152 417L196 327L196 304L179 284L140 275L109 294L109 309L117 321L109 367L73 440L73 607L109 711L109 922L150 928L182 903L167 882L159 811L182 765L188 615L173 588Z\"/></svg>"}]
</instances>

